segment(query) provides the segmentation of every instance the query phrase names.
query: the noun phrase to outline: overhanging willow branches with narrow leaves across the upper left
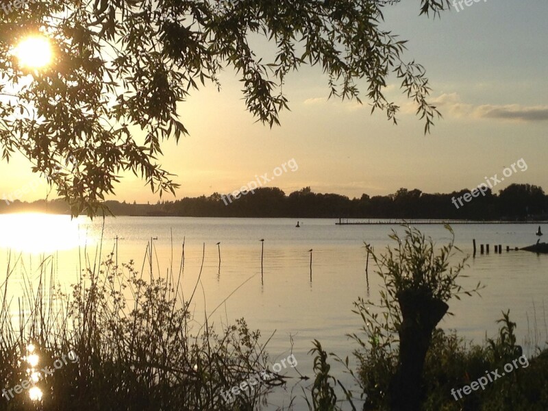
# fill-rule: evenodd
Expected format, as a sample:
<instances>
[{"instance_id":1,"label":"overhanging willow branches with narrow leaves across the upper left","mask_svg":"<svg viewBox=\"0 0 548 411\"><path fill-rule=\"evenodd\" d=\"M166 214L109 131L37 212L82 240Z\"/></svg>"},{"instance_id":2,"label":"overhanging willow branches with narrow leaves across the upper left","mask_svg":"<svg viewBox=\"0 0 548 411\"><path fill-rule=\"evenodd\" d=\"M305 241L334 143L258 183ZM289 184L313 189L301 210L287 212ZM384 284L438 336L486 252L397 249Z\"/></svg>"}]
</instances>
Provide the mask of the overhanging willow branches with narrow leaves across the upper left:
<instances>
[{"instance_id":1,"label":"overhanging willow branches with narrow leaves across the upper left","mask_svg":"<svg viewBox=\"0 0 548 411\"><path fill-rule=\"evenodd\" d=\"M200 85L220 89L227 68L238 73L247 110L271 126L288 105L286 76L303 65L321 66L330 96L365 97L395 122L399 106L385 97L394 77L427 132L440 114L427 101L425 69L403 60L406 42L381 28L399 1L23 1L0 13L2 158L23 153L73 214L95 214L123 171L175 192L157 162L162 142L188 134L179 105ZM448 8L448 0L420 4L421 14ZM13 58L29 36L52 42L48 67ZM274 58L254 47L260 38Z\"/></svg>"}]
</instances>

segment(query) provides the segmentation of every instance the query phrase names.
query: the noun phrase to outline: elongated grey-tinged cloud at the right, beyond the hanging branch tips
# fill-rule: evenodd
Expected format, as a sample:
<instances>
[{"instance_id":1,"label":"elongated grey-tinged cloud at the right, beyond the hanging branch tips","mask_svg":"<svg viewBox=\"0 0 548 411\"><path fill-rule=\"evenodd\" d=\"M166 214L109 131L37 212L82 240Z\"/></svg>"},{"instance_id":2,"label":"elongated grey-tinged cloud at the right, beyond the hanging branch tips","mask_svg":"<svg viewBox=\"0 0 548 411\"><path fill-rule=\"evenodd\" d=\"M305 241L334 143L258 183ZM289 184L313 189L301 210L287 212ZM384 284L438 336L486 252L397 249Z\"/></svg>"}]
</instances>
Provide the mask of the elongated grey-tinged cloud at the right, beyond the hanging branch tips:
<instances>
[{"instance_id":1,"label":"elongated grey-tinged cloud at the right, beyond the hanging branch tips","mask_svg":"<svg viewBox=\"0 0 548 411\"><path fill-rule=\"evenodd\" d=\"M463 103L456 93L445 93L432 99L443 114L454 117L473 117L475 119L501 119L508 121L548 121L548 105L524 106L508 105L473 105Z\"/></svg>"}]
</instances>

